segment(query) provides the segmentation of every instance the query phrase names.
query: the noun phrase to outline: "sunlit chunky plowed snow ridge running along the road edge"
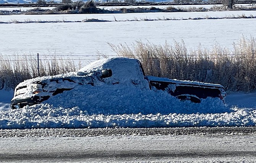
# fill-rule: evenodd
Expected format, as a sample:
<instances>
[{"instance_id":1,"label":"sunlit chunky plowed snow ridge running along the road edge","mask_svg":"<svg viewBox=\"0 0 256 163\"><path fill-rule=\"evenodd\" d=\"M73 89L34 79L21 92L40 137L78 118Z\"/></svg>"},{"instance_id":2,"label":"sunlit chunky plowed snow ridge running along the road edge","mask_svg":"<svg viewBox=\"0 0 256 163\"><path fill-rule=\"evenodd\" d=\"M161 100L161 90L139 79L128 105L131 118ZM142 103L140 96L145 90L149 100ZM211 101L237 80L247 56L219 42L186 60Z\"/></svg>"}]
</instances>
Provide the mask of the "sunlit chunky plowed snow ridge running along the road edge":
<instances>
[{"instance_id":1,"label":"sunlit chunky plowed snow ridge running along the road edge","mask_svg":"<svg viewBox=\"0 0 256 163\"><path fill-rule=\"evenodd\" d=\"M88 114L79 107L54 108L38 104L5 111L0 127L12 128L104 128L104 127L222 127L255 126L255 109L232 108L233 112L215 114Z\"/></svg>"}]
</instances>

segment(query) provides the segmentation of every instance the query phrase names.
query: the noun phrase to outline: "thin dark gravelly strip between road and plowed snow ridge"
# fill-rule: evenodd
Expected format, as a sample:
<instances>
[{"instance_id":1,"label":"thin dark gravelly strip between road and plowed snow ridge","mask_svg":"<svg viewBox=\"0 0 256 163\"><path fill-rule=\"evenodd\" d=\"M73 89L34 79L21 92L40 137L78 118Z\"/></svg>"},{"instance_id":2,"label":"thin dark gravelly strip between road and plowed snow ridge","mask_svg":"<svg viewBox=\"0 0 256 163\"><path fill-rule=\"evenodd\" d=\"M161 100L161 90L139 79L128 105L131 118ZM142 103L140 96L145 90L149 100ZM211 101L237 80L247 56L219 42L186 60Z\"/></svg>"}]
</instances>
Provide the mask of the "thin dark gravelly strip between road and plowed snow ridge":
<instances>
[{"instance_id":1,"label":"thin dark gravelly strip between road and plowed snow ridge","mask_svg":"<svg viewBox=\"0 0 256 163\"><path fill-rule=\"evenodd\" d=\"M0 138L11 137L85 137L85 136L149 136L149 135L255 135L256 127L188 127L188 128L41 128L0 130Z\"/></svg>"}]
</instances>

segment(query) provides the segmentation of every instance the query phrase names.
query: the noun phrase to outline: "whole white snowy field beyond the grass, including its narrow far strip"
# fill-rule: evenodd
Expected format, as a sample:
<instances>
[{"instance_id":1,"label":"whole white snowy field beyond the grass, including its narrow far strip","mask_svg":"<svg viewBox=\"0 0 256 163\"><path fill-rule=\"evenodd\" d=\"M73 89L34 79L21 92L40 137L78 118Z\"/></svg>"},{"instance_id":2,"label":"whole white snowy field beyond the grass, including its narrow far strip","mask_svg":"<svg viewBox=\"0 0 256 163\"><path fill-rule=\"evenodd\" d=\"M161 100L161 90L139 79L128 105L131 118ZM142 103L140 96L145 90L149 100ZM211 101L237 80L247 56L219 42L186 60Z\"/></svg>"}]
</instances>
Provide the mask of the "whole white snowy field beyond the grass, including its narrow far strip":
<instances>
[{"instance_id":1,"label":"whole white snowy field beyond the grass, including its narrow far strip","mask_svg":"<svg viewBox=\"0 0 256 163\"><path fill-rule=\"evenodd\" d=\"M238 41L241 35L246 38L256 37L255 19L182 19L241 16L242 14L255 16L256 11L0 16L0 22L82 21L92 18L113 21L0 24L0 37L2 38L0 39L0 54L39 53L41 55L65 55L66 57L73 55L72 58L81 59L82 66L84 66L96 59L97 52L115 55L107 42L115 45L120 43L131 45L141 40L163 45L165 41L173 44L174 40L178 42L184 40L188 49L194 49L199 44L211 48L217 41L220 46L232 49L233 42ZM126 21L164 18L181 20ZM120 22L114 21L115 19Z\"/></svg>"}]
</instances>

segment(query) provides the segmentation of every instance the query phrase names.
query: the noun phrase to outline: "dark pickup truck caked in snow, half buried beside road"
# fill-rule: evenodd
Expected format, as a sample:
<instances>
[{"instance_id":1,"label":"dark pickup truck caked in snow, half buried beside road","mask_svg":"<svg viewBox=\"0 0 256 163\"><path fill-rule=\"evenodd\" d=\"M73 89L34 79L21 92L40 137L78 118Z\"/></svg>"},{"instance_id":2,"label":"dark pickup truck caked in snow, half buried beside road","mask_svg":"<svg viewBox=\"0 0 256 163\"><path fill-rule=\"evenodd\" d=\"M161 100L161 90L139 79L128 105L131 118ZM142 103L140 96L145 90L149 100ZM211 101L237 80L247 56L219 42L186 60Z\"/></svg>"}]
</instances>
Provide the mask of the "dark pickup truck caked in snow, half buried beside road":
<instances>
[{"instance_id":1,"label":"dark pickup truck caked in snow, half buried beside road","mask_svg":"<svg viewBox=\"0 0 256 163\"><path fill-rule=\"evenodd\" d=\"M149 91L163 90L181 101L190 100L194 103L200 103L201 99L207 97L218 97L224 101L226 96L222 85L145 76L139 60L118 57L97 60L76 72L42 76L21 82L15 88L11 108L39 104L77 85L97 87L106 84Z\"/></svg>"}]
</instances>

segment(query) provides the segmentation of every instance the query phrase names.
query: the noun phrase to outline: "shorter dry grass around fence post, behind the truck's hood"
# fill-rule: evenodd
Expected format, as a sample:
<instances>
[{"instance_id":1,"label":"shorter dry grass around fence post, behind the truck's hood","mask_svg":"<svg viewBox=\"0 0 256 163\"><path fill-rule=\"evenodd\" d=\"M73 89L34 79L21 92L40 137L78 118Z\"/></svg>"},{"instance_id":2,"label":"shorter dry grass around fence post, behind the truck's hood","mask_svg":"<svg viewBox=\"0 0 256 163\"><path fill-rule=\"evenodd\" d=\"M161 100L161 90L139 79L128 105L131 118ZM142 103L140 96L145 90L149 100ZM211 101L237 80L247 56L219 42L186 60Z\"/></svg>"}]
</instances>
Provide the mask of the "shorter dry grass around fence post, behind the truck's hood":
<instances>
[{"instance_id":1,"label":"shorter dry grass around fence post, behind the truck's hood","mask_svg":"<svg viewBox=\"0 0 256 163\"><path fill-rule=\"evenodd\" d=\"M0 61L0 89L14 89L19 82L26 79L68 73L81 68L72 59L62 59L55 55L40 56L39 74L37 55L0 55Z\"/></svg>"}]
</instances>

